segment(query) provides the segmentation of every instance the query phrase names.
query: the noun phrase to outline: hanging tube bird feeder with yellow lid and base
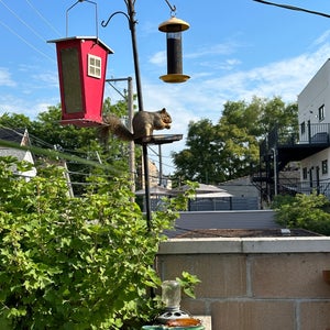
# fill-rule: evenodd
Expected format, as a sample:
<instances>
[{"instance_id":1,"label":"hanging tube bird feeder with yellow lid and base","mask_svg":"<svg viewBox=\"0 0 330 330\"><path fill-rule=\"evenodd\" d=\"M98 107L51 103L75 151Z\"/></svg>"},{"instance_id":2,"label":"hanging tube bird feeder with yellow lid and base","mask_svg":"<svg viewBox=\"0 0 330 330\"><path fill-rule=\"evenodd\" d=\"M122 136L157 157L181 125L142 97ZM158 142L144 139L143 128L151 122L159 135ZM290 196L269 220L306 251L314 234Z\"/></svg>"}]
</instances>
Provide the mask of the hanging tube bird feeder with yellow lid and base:
<instances>
[{"instance_id":1,"label":"hanging tube bird feeder with yellow lid and base","mask_svg":"<svg viewBox=\"0 0 330 330\"><path fill-rule=\"evenodd\" d=\"M160 78L165 82L184 82L190 77L183 74L182 32L189 29L189 24L172 16L160 24L158 30L166 33L167 40L167 75Z\"/></svg>"}]
</instances>

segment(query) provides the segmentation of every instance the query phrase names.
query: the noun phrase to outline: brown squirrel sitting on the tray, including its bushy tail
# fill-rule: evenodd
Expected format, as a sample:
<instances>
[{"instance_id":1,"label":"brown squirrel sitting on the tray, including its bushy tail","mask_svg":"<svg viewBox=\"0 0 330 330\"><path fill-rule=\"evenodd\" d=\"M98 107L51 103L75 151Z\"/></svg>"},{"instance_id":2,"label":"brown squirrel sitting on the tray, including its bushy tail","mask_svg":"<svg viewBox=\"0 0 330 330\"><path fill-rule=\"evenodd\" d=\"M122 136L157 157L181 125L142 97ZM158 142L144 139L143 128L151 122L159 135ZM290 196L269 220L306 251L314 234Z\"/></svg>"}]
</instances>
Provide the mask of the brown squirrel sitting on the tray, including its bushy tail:
<instances>
[{"instance_id":1,"label":"brown squirrel sitting on the tray, including its bushy tail","mask_svg":"<svg viewBox=\"0 0 330 330\"><path fill-rule=\"evenodd\" d=\"M103 117L105 127L101 135L108 136L109 132L123 141L134 141L153 134L154 130L170 129L172 118L165 108L158 111L139 111L133 117L133 132L131 133L114 114Z\"/></svg>"}]
</instances>

